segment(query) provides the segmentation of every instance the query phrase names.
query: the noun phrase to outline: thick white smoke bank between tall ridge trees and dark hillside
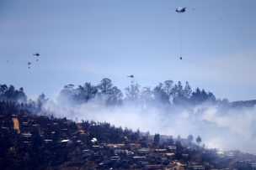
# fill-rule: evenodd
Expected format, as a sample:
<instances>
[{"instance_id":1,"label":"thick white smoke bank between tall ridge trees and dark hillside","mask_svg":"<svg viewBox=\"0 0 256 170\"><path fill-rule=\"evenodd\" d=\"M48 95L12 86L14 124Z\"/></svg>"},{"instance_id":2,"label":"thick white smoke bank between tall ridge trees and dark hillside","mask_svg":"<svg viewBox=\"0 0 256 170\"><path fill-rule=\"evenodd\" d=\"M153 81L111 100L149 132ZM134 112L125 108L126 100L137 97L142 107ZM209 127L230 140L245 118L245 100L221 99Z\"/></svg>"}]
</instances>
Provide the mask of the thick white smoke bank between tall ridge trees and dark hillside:
<instances>
[{"instance_id":1,"label":"thick white smoke bank between tall ridge trees and dark hillside","mask_svg":"<svg viewBox=\"0 0 256 170\"><path fill-rule=\"evenodd\" d=\"M187 138L189 134L200 136L208 148L221 151L240 150L256 154L256 108L223 107L205 103L198 106L135 106L124 103L106 106L101 100L89 100L86 104L63 104L48 101L45 105L58 117L74 121L109 122L115 126L136 131L149 131L173 137ZM159 106L159 107L158 107Z\"/></svg>"}]
</instances>

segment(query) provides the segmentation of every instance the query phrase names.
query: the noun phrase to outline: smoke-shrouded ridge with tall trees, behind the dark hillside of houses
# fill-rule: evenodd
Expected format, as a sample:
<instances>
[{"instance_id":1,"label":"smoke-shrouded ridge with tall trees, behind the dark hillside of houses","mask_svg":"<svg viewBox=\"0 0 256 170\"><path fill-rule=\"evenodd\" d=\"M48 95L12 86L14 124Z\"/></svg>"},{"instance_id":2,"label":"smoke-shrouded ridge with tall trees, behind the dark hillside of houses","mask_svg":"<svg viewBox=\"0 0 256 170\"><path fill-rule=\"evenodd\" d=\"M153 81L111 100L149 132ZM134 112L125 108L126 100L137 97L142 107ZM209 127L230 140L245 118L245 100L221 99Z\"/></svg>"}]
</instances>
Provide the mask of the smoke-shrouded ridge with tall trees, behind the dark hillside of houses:
<instances>
[{"instance_id":1,"label":"smoke-shrouded ridge with tall trees, behind the dark hillside of houses","mask_svg":"<svg viewBox=\"0 0 256 170\"><path fill-rule=\"evenodd\" d=\"M6 94L12 94L10 89L3 88L2 100L8 99ZM132 80L122 92L105 78L98 85L65 85L54 100L42 94L28 102L39 108L39 114L73 121L106 121L134 131L173 137L192 134L202 137L202 145L207 148L256 153L255 100L216 99L211 92L192 90L188 82L182 85L166 80L150 88Z\"/></svg>"}]
</instances>

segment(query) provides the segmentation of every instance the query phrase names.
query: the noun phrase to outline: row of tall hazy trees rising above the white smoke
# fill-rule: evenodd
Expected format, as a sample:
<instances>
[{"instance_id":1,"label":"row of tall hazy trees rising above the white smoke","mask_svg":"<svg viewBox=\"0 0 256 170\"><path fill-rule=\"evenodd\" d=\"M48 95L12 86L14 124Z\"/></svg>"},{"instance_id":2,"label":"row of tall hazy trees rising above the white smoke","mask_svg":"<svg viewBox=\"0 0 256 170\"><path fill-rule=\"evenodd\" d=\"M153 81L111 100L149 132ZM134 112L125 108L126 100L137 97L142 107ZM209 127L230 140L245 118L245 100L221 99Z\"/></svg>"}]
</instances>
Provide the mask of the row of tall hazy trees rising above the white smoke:
<instances>
[{"instance_id":1,"label":"row of tall hazy trees rising above the white smoke","mask_svg":"<svg viewBox=\"0 0 256 170\"><path fill-rule=\"evenodd\" d=\"M216 102L216 96L210 91L206 92L199 88L193 91L189 82L182 85L180 81L175 84L173 80L165 80L154 88L141 88L141 85L131 81L131 85L122 92L110 79L104 78L99 85L92 85L89 82L77 87L72 84L65 85L59 96L61 101L77 104L87 103L89 100L104 101L107 105L120 105L125 102L141 106L196 105L205 101Z\"/></svg>"}]
</instances>

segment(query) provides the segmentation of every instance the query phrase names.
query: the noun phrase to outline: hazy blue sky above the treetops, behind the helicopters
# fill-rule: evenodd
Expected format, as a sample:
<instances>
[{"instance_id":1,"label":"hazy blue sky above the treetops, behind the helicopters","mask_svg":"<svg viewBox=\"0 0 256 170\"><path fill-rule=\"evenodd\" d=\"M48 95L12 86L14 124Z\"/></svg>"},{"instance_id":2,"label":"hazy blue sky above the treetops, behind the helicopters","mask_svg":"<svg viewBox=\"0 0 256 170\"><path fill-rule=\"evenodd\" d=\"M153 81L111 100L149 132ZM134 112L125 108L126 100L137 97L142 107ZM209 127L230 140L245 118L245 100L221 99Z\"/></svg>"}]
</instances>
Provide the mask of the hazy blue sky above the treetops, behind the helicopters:
<instances>
[{"instance_id":1,"label":"hazy blue sky above the treetops, behind the helicopters","mask_svg":"<svg viewBox=\"0 0 256 170\"><path fill-rule=\"evenodd\" d=\"M183 60L176 7L188 7ZM141 86L188 80L219 98L256 99L255 8L255 0L0 0L0 84L53 97L105 77L123 90L132 74Z\"/></svg>"}]
</instances>

